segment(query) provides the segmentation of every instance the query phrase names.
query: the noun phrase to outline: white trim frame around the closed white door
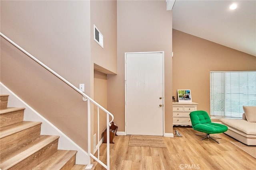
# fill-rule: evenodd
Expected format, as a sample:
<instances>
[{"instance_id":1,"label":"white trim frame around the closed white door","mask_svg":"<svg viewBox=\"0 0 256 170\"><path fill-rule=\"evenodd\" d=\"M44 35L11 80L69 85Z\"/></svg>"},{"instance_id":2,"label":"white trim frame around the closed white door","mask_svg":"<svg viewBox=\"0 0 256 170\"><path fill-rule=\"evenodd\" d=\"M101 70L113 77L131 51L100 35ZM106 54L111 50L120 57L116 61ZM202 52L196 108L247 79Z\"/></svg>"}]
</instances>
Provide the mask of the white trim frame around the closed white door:
<instances>
[{"instance_id":1,"label":"white trim frame around the closed white door","mask_svg":"<svg viewBox=\"0 0 256 170\"><path fill-rule=\"evenodd\" d=\"M165 93L164 93L164 51L150 51L150 52L127 52L124 53L124 132L126 135L126 127L127 127L127 123L126 123L126 54L142 54L142 53L162 53L162 62L163 62L163 136L165 137L165 104L164 104L164 100L165 100Z\"/></svg>"}]
</instances>

